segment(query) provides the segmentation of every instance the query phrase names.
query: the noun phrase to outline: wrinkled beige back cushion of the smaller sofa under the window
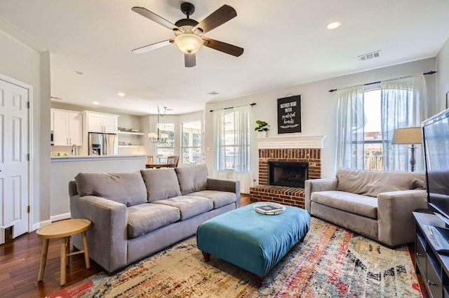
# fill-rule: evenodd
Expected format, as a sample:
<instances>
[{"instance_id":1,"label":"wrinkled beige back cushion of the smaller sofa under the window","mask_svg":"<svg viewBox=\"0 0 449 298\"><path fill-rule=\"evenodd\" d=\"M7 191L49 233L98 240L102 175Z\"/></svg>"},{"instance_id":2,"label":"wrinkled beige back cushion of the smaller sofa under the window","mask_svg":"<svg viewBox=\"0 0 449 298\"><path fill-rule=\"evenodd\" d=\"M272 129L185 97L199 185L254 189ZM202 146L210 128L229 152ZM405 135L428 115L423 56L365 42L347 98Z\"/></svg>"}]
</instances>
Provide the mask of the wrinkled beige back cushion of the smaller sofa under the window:
<instances>
[{"instance_id":1,"label":"wrinkled beige back cushion of the smaller sofa under the window","mask_svg":"<svg viewBox=\"0 0 449 298\"><path fill-rule=\"evenodd\" d=\"M377 197L381 192L425 189L424 173L338 169L337 190Z\"/></svg>"}]
</instances>

